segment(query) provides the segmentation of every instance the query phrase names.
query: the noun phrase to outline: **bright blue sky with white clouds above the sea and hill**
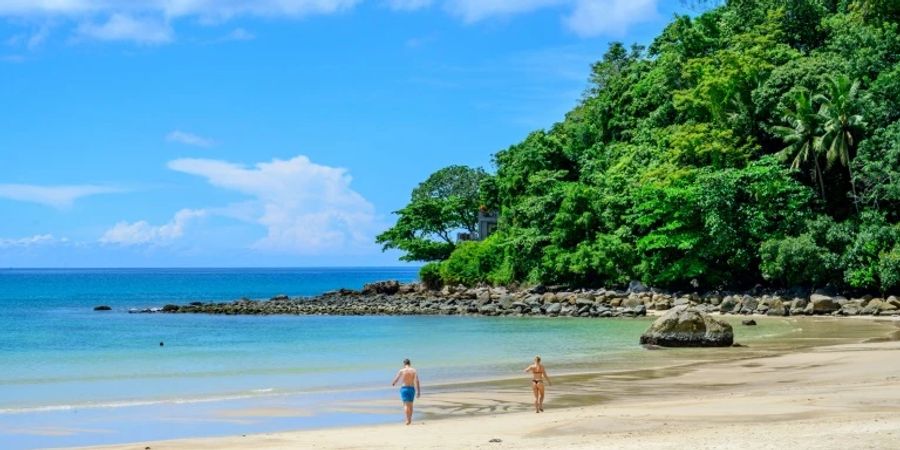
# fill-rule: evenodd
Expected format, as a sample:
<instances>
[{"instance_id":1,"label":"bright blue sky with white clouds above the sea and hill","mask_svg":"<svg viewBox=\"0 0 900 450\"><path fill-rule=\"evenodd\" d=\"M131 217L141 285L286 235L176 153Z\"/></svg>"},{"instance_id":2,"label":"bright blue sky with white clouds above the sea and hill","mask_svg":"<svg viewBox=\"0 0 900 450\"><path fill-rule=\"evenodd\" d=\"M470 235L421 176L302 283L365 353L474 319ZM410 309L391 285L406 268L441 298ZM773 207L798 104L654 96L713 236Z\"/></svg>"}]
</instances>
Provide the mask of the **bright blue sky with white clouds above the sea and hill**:
<instances>
[{"instance_id":1,"label":"bright blue sky with white clouds above the sea and hill","mask_svg":"<svg viewBox=\"0 0 900 450\"><path fill-rule=\"evenodd\" d=\"M394 265L674 0L0 0L0 267Z\"/></svg>"}]
</instances>

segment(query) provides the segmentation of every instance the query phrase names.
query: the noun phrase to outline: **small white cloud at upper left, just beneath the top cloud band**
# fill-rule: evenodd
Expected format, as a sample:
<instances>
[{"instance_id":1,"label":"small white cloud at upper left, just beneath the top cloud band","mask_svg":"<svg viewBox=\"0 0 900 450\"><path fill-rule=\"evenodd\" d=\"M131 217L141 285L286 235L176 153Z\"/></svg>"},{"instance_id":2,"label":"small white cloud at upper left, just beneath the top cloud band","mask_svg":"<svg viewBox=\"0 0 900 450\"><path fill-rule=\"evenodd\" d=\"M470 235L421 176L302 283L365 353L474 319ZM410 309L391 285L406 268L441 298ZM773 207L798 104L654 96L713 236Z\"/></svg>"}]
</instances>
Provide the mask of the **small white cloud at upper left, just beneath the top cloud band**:
<instances>
[{"instance_id":1,"label":"small white cloud at upper left, just beneath the top cloud band","mask_svg":"<svg viewBox=\"0 0 900 450\"><path fill-rule=\"evenodd\" d=\"M172 41L172 28L163 20L137 19L127 14L113 14L103 23L82 23L77 34L100 41L134 41L140 44L165 44Z\"/></svg>"}]
</instances>

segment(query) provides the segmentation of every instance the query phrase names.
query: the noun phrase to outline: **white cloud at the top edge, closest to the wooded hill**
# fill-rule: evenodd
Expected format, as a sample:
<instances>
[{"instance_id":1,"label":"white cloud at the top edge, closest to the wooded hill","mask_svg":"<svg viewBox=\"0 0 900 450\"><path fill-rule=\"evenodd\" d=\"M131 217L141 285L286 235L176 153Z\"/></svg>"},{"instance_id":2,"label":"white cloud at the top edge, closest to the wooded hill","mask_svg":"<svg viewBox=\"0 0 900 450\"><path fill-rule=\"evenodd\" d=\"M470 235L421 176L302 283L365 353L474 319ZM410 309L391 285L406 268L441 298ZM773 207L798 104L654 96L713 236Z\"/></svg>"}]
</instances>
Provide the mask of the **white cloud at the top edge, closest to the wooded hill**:
<instances>
[{"instance_id":1,"label":"white cloud at the top edge, closest to the wooded hill","mask_svg":"<svg viewBox=\"0 0 900 450\"><path fill-rule=\"evenodd\" d=\"M564 22L584 37L623 36L631 25L658 17L658 0L579 0Z\"/></svg>"}]
</instances>

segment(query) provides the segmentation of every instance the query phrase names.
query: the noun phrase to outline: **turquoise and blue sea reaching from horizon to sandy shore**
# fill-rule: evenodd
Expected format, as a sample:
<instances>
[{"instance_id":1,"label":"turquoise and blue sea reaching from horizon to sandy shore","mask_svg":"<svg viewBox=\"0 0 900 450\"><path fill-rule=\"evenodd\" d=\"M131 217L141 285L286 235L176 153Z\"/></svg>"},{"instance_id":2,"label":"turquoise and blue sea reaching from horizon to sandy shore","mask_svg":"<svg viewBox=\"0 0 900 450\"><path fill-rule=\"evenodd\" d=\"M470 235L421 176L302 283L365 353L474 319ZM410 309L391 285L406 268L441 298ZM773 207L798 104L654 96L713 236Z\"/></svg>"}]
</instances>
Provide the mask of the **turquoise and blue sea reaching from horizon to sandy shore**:
<instances>
[{"instance_id":1,"label":"turquoise and blue sea reaching from horizon to sandy shore","mask_svg":"<svg viewBox=\"0 0 900 450\"><path fill-rule=\"evenodd\" d=\"M396 421L398 408L353 405L397 402L404 358L423 389L446 390L521 377L538 354L560 374L653 357L637 345L649 319L129 313L408 282L417 270L0 270L0 448Z\"/></svg>"}]
</instances>

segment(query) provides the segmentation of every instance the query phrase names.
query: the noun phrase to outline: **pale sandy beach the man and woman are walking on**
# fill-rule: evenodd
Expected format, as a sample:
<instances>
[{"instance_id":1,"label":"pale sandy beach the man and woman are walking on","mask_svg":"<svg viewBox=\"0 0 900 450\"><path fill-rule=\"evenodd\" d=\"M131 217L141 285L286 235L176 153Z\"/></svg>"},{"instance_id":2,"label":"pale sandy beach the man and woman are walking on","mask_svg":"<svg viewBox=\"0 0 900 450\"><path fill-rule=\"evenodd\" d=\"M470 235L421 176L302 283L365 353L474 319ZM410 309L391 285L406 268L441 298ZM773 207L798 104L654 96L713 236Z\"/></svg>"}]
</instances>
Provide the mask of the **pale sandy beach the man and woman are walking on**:
<instances>
[{"instance_id":1,"label":"pale sandy beach the man and woman are walking on","mask_svg":"<svg viewBox=\"0 0 900 450\"><path fill-rule=\"evenodd\" d=\"M897 448L900 342L872 338L619 375L561 376L543 414L529 410L525 383L507 380L487 393L474 386L426 390L412 426L400 424L399 406L386 403L370 407L396 406L397 424L104 448Z\"/></svg>"}]
</instances>

